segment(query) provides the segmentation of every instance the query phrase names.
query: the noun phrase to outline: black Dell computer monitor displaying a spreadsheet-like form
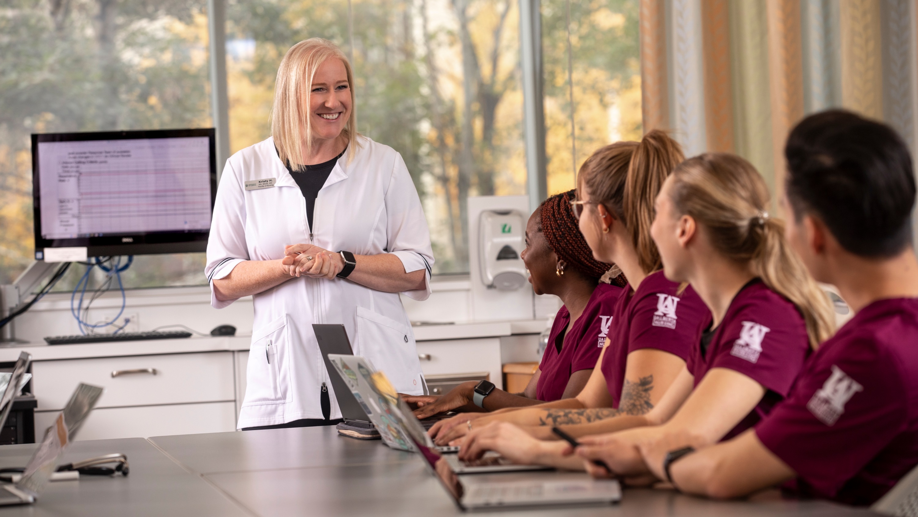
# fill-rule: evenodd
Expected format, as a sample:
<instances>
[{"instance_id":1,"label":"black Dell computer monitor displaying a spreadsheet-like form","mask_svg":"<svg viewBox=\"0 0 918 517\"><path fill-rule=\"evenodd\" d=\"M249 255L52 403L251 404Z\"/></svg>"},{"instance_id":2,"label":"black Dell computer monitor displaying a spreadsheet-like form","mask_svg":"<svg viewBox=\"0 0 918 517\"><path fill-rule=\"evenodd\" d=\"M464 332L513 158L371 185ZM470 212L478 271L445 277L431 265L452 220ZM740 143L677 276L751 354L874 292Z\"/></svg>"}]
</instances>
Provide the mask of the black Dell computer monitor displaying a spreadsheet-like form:
<instances>
[{"instance_id":1,"label":"black Dell computer monitor displaying a spreadsheet-like form","mask_svg":"<svg viewBox=\"0 0 918 517\"><path fill-rule=\"evenodd\" d=\"M35 259L207 250L214 129L32 135Z\"/></svg>"}]
</instances>

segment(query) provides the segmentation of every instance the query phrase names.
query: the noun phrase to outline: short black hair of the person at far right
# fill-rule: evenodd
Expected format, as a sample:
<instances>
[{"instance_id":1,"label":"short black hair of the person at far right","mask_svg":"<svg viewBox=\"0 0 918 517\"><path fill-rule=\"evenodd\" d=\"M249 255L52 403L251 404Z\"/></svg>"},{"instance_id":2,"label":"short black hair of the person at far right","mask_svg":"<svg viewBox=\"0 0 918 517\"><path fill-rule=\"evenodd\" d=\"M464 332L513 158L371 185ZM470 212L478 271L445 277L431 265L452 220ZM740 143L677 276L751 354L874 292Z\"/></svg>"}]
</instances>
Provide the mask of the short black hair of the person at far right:
<instances>
[{"instance_id":1,"label":"short black hair of the person at far right","mask_svg":"<svg viewBox=\"0 0 918 517\"><path fill-rule=\"evenodd\" d=\"M790 131L784 154L798 220L812 212L860 256L890 257L912 244L912 156L895 130L850 111L823 111Z\"/></svg>"}]
</instances>

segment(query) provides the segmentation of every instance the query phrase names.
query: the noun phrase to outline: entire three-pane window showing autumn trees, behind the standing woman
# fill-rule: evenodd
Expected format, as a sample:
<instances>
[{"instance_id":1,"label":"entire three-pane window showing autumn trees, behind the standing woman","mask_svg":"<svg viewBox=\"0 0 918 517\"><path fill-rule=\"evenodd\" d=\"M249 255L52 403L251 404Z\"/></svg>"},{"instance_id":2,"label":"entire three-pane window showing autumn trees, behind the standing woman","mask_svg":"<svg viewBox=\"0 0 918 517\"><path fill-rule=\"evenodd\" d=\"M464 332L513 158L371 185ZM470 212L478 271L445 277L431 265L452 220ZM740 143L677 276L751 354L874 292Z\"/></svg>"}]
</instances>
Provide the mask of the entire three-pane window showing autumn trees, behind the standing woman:
<instances>
[{"instance_id":1,"label":"entire three-pane window showing autumn trees, behind the standing woman","mask_svg":"<svg viewBox=\"0 0 918 517\"><path fill-rule=\"evenodd\" d=\"M526 194L517 0L226 2L230 151L270 135L285 51L331 39L352 57L358 130L408 164L435 273L468 271L467 197ZM206 0L5 5L0 283L32 257L29 133L211 125ZM640 136L637 13L638 0L542 0L549 194L599 146ZM203 284L203 268L202 253L139 256L125 286Z\"/></svg>"}]
</instances>

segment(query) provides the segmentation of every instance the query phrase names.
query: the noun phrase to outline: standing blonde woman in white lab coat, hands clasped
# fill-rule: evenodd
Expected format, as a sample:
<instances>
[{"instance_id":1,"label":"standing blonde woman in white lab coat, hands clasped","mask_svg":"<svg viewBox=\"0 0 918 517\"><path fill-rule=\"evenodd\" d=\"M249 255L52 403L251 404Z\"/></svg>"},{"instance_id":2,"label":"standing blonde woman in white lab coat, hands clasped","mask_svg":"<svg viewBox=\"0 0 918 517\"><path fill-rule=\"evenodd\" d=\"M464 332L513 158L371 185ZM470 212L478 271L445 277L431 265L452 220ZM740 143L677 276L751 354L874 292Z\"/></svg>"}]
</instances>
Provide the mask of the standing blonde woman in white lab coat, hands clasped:
<instances>
[{"instance_id":1,"label":"standing blonde woman in white lab coat, hands clasped","mask_svg":"<svg viewBox=\"0 0 918 517\"><path fill-rule=\"evenodd\" d=\"M337 46L297 43L277 72L274 136L233 154L220 178L211 305L252 295L255 310L241 429L341 418L313 323L343 324L399 392L424 390L398 293L430 296L430 231L401 155L356 133L352 85Z\"/></svg>"}]
</instances>

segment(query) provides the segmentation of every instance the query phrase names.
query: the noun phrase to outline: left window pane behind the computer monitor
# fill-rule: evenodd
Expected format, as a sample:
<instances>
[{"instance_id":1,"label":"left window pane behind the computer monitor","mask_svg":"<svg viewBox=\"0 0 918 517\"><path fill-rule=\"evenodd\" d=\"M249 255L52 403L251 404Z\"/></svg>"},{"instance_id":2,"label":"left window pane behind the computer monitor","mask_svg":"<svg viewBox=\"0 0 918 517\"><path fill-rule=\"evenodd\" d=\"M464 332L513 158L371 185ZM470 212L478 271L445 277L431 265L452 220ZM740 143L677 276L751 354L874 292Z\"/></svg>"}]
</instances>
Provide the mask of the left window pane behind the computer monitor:
<instances>
[{"instance_id":1,"label":"left window pane behind the computer monitor","mask_svg":"<svg viewBox=\"0 0 918 517\"><path fill-rule=\"evenodd\" d=\"M31 262L33 132L210 126L203 0L0 8L0 283ZM137 257L126 287L198 284L201 253ZM75 284L74 278L59 286ZM82 274L82 272L79 272Z\"/></svg>"}]
</instances>

